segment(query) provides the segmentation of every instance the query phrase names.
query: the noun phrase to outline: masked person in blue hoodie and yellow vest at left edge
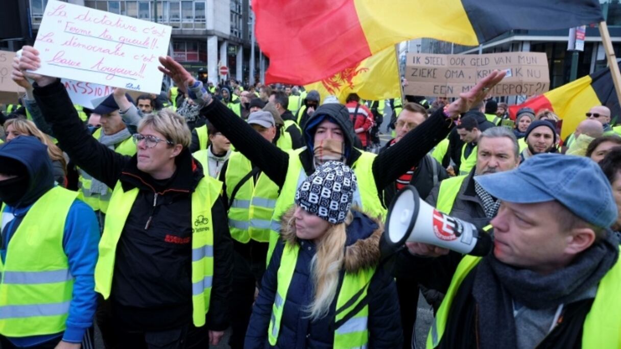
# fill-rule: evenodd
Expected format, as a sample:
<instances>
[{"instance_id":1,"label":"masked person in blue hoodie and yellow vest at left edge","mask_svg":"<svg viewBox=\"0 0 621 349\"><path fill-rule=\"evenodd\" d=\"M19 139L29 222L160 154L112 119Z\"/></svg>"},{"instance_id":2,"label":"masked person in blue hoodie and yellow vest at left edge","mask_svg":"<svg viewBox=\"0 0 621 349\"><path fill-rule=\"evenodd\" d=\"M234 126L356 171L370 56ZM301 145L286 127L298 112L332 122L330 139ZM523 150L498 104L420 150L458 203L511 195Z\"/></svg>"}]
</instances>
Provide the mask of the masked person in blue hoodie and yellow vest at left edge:
<instances>
[{"instance_id":1,"label":"masked person in blue hoodie and yellow vest at left edge","mask_svg":"<svg viewBox=\"0 0 621 349\"><path fill-rule=\"evenodd\" d=\"M77 116L76 116L77 117ZM0 347L92 347L99 225L32 136L0 146Z\"/></svg>"}]
</instances>

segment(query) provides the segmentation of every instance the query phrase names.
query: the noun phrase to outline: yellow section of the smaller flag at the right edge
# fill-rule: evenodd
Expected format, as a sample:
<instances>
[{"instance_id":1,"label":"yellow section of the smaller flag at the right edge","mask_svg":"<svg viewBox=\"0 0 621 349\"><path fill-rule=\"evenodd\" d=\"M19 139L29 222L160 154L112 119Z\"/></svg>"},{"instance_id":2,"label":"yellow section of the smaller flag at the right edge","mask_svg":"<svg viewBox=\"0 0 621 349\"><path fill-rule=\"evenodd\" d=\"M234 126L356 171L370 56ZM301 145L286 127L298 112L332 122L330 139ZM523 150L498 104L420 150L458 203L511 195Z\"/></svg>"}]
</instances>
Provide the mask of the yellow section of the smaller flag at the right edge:
<instances>
[{"instance_id":1,"label":"yellow section of the smaller flag at the right edge","mask_svg":"<svg viewBox=\"0 0 621 349\"><path fill-rule=\"evenodd\" d=\"M550 101L556 115L563 119L562 139L568 137L586 119L584 115L591 107L602 104L591 87L591 76L588 75L543 95Z\"/></svg>"}]
</instances>

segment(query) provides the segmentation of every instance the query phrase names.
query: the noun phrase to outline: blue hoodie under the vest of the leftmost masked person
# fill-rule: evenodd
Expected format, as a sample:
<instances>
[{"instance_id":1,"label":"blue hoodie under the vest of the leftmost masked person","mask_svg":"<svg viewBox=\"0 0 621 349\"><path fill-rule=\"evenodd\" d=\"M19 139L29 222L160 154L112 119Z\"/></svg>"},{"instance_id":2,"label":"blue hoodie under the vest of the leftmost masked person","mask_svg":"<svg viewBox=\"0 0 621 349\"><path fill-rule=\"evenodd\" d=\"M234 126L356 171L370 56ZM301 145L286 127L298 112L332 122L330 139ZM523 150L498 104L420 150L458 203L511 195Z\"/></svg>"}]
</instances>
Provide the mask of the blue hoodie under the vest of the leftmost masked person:
<instances>
[{"instance_id":1,"label":"blue hoodie under the vest of the leftmost masked person","mask_svg":"<svg viewBox=\"0 0 621 349\"><path fill-rule=\"evenodd\" d=\"M0 257L4 262L6 247L12 235L32 204L53 188L54 179L47 147L35 137L20 136L5 143L0 146L0 157L20 161L27 168L29 176L29 186L24 197L16 204L16 207L6 205L2 211ZM52 335L7 338L11 343L16 347L32 347L60 336L65 342L82 342L84 333L93 325L93 317L97 308L94 270L97 262L98 242L99 225L93 209L82 201L74 201L66 217L63 235L63 250L68 257L71 275L75 278L66 330Z\"/></svg>"}]
</instances>

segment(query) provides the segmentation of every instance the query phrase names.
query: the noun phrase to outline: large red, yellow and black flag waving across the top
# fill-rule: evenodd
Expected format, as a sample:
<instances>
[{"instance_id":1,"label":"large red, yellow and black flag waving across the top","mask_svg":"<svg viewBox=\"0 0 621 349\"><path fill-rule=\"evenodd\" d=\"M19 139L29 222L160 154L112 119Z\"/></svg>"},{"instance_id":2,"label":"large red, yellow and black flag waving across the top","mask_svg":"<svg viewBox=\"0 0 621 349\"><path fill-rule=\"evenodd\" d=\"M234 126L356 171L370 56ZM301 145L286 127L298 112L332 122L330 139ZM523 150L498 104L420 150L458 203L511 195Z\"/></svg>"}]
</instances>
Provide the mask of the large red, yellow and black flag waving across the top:
<instances>
[{"instance_id":1,"label":"large red, yellow and black flag waving across the top","mask_svg":"<svg viewBox=\"0 0 621 349\"><path fill-rule=\"evenodd\" d=\"M266 83L320 81L404 40L476 46L512 29L603 20L598 0L253 0Z\"/></svg>"}]
</instances>

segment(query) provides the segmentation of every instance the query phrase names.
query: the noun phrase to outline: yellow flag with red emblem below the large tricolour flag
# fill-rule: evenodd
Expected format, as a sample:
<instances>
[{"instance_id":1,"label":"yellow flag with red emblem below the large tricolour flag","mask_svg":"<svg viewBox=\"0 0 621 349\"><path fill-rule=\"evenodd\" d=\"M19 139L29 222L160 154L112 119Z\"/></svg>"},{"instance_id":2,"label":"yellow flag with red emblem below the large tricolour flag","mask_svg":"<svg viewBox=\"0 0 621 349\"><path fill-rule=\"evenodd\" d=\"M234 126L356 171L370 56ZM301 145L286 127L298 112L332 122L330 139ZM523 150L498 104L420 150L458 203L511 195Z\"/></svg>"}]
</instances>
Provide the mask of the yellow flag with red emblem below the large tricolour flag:
<instances>
[{"instance_id":1,"label":"yellow flag with red emblem below the large tricolour flag","mask_svg":"<svg viewBox=\"0 0 621 349\"><path fill-rule=\"evenodd\" d=\"M366 58L358 65L336 75L304 86L306 91L315 89L323 102L326 96L337 96L345 103L350 93L357 93L366 101L379 101L401 97L401 78L394 46Z\"/></svg>"}]
</instances>

